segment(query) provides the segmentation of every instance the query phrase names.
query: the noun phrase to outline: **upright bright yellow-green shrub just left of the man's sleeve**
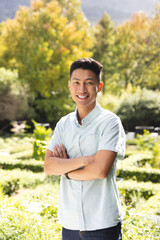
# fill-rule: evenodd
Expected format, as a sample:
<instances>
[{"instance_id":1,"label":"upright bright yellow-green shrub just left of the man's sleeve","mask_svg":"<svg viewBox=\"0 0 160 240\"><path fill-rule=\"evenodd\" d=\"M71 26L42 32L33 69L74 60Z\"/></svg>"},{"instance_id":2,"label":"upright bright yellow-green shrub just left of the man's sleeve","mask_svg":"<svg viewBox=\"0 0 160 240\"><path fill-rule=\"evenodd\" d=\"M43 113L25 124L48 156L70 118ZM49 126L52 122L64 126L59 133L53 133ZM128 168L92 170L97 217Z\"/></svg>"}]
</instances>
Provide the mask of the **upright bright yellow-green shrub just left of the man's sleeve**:
<instances>
[{"instance_id":1,"label":"upright bright yellow-green shrub just left of the man's sleeve","mask_svg":"<svg viewBox=\"0 0 160 240\"><path fill-rule=\"evenodd\" d=\"M41 126L34 120L32 120L34 124L34 137L35 142L33 144L33 157L35 159L44 159L46 148L47 148L47 141L46 137L52 132L51 128L46 129L45 126Z\"/></svg>"}]
</instances>

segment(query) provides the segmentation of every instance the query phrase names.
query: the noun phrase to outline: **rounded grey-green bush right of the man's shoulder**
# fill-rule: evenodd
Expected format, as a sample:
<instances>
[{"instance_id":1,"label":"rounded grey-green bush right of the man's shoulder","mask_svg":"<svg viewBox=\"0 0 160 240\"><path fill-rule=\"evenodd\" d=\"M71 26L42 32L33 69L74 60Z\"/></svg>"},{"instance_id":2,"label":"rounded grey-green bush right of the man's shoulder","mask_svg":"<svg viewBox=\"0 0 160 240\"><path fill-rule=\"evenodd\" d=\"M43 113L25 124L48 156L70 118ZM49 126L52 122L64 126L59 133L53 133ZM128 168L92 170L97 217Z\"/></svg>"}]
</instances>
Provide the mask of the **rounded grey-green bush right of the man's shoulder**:
<instances>
[{"instance_id":1,"label":"rounded grey-green bush right of the man's shoulder","mask_svg":"<svg viewBox=\"0 0 160 240\"><path fill-rule=\"evenodd\" d=\"M160 126L160 93L146 89L128 93L115 113L126 131L134 131L135 126Z\"/></svg>"}]
</instances>

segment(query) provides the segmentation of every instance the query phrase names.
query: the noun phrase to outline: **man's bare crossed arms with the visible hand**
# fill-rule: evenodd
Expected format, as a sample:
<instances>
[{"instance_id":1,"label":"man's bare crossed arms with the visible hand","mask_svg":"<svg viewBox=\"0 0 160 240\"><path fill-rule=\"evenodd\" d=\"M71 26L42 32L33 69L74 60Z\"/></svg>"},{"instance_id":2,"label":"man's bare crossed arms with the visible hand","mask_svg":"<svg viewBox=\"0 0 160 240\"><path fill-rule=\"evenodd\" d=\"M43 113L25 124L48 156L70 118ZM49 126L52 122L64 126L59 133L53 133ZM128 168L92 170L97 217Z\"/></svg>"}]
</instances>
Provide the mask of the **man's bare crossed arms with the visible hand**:
<instances>
[{"instance_id":1,"label":"man's bare crossed arms with the visible hand","mask_svg":"<svg viewBox=\"0 0 160 240\"><path fill-rule=\"evenodd\" d=\"M105 178L114 163L117 153L99 150L95 155L68 158L64 145L55 145L47 150L44 171L47 175L64 175L74 180L94 180ZM83 167L83 168L82 168Z\"/></svg>"}]
</instances>

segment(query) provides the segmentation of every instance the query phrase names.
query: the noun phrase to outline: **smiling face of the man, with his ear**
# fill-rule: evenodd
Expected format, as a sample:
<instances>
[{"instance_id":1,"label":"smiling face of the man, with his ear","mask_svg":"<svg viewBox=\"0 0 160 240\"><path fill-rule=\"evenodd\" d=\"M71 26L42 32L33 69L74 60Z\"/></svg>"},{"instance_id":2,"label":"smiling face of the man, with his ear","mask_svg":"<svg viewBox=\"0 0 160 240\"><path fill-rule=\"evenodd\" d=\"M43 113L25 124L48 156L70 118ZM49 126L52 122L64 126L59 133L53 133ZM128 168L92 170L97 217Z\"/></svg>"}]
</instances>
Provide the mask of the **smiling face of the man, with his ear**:
<instances>
[{"instance_id":1,"label":"smiling face of the man, with his ear","mask_svg":"<svg viewBox=\"0 0 160 240\"><path fill-rule=\"evenodd\" d=\"M82 68L74 70L69 81L70 93L77 107L94 108L97 93L101 91L102 86L93 71Z\"/></svg>"}]
</instances>

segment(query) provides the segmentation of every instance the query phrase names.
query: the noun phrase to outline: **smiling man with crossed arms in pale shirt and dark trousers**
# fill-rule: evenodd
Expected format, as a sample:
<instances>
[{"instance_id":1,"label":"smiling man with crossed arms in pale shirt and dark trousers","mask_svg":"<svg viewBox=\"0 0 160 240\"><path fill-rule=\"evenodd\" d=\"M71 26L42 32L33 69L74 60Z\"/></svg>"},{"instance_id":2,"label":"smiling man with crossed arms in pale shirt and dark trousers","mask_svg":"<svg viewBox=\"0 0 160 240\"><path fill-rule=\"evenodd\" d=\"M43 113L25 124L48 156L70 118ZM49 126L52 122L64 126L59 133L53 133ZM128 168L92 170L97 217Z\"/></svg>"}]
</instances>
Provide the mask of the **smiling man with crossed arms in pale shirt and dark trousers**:
<instances>
[{"instance_id":1,"label":"smiling man with crossed arms in pale shirt and dark trousers","mask_svg":"<svg viewBox=\"0 0 160 240\"><path fill-rule=\"evenodd\" d=\"M68 84L77 109L58 122L46 151L45 173L61 175L63 240L122 239L116 163L124 157L125 133L120 119L96 102L101 71L91 58L72 63Z\"/></svg>"}]
</instances>

